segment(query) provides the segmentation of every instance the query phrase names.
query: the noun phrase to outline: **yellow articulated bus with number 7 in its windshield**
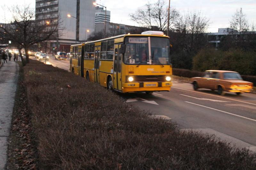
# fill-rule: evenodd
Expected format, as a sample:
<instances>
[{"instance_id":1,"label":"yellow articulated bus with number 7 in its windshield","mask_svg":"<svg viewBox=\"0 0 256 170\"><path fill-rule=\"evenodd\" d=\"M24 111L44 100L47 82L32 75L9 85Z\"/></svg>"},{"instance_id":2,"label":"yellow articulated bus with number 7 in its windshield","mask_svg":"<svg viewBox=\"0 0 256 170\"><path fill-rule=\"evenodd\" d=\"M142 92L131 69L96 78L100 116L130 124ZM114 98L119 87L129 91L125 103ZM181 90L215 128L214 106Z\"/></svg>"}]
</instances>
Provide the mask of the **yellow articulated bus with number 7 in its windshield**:
<instances>
[{"instance_id":1,"label":"yellow articulated bus with number 7 in its windshield","mask_svg":"<svg viewBox=\"0 0 256 170\"><path fill-rule=\"evenodd\" d=\"M170 38L146 31L72 45L70 71L118 92L170 91Z\"/></svg>"}]
</instances>

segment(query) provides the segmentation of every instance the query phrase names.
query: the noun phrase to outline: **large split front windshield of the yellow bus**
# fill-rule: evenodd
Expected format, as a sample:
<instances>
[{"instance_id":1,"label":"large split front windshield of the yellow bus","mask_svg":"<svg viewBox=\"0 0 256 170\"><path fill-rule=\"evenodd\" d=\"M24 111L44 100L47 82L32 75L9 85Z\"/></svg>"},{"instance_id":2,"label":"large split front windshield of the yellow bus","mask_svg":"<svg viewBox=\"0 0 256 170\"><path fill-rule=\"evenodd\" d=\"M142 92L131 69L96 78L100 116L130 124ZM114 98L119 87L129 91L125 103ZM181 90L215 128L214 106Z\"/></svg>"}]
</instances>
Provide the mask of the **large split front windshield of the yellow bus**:
<instances>
[{"instance_id":1,"label":"large split front windshield of the yellow bus","mask_svg":"<svg viewBox=\"0 0 256 170\"><path fill-rule=\"evenodd\" d=\"M170 64L170 41L168 38L127 37L125 45L125 64L148 65L150 60L152 65Z\"/></svg>"}]
</instances>

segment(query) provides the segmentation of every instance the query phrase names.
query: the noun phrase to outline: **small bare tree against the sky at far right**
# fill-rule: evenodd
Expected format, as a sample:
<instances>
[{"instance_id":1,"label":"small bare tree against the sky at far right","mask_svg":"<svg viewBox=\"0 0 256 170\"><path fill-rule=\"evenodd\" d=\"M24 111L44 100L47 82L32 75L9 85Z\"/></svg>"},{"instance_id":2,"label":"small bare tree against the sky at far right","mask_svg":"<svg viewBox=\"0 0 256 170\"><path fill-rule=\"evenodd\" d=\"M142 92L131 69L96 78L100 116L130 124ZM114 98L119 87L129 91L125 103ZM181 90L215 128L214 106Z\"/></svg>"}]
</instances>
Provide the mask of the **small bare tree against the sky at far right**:
<instances>
[{"instance_id":1,"label":"small bare tree against the sky at far right","mask_svg":"<svg viewBox=\"0 0 256 170\"><path fill-rule=\"evenodd\" d=\"M235 14L232 16L232 20L230 21L230 28L237 30L239 34L248 31L248 20L242 8L237 9Z\"/></svg>"}]
</instances>

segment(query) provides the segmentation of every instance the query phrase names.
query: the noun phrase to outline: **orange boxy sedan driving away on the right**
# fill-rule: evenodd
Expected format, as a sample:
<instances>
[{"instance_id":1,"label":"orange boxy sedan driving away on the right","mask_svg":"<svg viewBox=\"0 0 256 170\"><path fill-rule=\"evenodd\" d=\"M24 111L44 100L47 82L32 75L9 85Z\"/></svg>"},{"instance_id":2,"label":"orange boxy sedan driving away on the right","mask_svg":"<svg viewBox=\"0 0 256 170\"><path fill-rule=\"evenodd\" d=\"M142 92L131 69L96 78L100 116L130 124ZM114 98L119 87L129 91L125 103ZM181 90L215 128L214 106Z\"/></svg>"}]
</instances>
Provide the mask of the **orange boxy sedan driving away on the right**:
<instances>
[{"instance_id":1,"label":"orange boxy sedan driving away on the right","mask_svg":"<svg viewBox=\"0 0 256 170\"><path fill-rule=\"evenodd\" d=\"M253 83L244 81L240 74L235 71L206 70L204 77L192 78L194 90L198 88L218 90L218 94L226 92L251 92Z\"/></svg>"}]
</instances>

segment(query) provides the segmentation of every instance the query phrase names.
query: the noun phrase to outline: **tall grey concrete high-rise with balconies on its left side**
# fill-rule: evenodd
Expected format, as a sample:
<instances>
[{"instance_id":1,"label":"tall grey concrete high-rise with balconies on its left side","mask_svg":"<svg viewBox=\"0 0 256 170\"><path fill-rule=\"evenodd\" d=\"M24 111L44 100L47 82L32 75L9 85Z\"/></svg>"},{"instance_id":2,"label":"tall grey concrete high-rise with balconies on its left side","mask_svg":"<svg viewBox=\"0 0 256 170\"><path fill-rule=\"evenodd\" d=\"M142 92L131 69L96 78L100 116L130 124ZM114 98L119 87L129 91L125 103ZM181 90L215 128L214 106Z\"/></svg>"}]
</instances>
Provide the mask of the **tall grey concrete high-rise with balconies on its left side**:
<instances>
[{"instance_id":1,"label":"tall grey concrete high-rise with balconies on its left side","mask_svg":"<svg viewBox=\"0 0 256 170\"><path fill-rule=\"evenodd\" d=\"M57 51L69 51L70 45L85 41L95 27L94 0L36 0L36 20L42 24L60 21L58 39L50 43L50 49L59 44ZM72 17L68 18L70 14Z\"/></svg>"}]
</instances>

